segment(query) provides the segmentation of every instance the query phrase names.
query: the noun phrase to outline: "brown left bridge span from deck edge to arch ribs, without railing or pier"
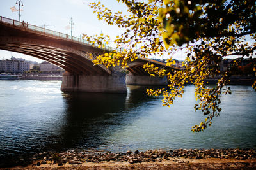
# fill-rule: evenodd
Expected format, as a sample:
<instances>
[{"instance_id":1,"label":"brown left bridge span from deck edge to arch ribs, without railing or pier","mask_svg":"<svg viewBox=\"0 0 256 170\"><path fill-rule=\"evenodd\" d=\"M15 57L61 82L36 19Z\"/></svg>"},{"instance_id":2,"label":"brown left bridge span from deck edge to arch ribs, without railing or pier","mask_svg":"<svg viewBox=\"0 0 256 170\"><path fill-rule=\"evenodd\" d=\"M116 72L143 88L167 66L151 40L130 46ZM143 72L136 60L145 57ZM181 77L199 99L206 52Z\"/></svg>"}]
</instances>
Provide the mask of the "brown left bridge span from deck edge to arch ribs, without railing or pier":
<instances>
[{"instance_id":1,"label":"brown left bridge span from deck edge to arch ribs, without railing or pier","mask_svg":"<svg viewBox=\"0 0 256 170\"><path fill-rule=\"evenodd\" d=\"M74 74L110 75L104 66L93 66L90 55L96 57L104 51L47 34L38 34L26 27L0 25L0 49L24 53L46 60Z\"/></svg>"}]
</instances>

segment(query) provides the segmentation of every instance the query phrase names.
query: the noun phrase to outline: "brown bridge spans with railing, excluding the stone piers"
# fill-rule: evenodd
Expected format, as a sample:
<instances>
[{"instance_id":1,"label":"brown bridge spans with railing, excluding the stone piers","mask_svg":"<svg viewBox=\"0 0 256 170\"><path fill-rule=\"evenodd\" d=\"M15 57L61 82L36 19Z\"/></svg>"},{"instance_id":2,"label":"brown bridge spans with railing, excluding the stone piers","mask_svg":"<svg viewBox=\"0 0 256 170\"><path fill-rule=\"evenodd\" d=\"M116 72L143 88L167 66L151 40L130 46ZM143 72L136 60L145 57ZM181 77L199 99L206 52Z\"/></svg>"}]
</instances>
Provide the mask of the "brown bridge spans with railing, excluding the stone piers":
<instances>
[{"instance_id":1,"label":"brown bridge spans with railing, excluding the stone piers","mask_svg":"<svg viewBox=\"0 0 256 170\"><path fill-rule=\"evenodd\" d=\"M93 66L88 53L99 55L116 50L109 46L98 48L85 39L45 29L25 22L19 22L0 16L1 46L3 50L20 52L39 59L47 60L60 66L68 72L77 74L111 74L104 66ZM16 39L15 39L16 38ZM143 64L152 63L155 66L166 67L163 62L147 58L138 58L128 70L134 74L146 74ZM177 69L168 67L168 69Z\"/></svg>"}]
</instances>

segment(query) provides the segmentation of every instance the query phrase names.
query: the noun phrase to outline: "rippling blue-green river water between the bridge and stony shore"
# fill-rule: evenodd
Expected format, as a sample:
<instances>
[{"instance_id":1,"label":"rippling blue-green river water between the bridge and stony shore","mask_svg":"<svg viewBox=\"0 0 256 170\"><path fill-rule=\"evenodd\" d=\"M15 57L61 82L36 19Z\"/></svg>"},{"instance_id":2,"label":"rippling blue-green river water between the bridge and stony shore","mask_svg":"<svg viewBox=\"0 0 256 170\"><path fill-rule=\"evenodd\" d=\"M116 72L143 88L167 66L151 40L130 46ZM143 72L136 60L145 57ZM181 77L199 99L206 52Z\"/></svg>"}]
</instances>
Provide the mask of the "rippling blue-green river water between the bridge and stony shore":
<instances>
[{"instance_id":1,"label":"rippling blue-green river water between the bridge and stony shore","mask_svg":"<svg viewBox=\"0 0 256 170\"><path fill-rule=\"evenodd\" d=\"M61 81L0 81L0 157L47 150L170 148L256 148L256 92L232 85L222 96L220 117L205 132L191 127L204 120L193 105L193 85L170 108L147 87L128 94L64 94Z\"/></svg>"}]
</instances>

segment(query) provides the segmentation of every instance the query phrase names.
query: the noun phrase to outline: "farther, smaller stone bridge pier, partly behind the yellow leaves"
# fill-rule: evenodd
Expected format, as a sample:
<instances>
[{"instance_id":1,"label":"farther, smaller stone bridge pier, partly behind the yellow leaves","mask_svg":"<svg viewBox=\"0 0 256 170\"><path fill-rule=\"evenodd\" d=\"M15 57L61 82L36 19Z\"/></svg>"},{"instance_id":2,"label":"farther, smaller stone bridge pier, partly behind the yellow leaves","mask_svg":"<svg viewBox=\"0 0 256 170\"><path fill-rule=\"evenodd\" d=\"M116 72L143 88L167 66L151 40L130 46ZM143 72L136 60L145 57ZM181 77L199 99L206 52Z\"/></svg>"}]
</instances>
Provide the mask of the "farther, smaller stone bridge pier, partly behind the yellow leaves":
<instances>
[{"instance_id":1,"label":"farther, smaller stone bridge pier, partly behind the yellow leaves","mask_svg":"<svg viewBox=\"0 0 256 170\"><path fill-rule=\"evenodd\" d=\"M166 77L150 77L150 76L134 76L131 74L126 75L127 85L167 85Z\"/></svg>"}]
</instances>

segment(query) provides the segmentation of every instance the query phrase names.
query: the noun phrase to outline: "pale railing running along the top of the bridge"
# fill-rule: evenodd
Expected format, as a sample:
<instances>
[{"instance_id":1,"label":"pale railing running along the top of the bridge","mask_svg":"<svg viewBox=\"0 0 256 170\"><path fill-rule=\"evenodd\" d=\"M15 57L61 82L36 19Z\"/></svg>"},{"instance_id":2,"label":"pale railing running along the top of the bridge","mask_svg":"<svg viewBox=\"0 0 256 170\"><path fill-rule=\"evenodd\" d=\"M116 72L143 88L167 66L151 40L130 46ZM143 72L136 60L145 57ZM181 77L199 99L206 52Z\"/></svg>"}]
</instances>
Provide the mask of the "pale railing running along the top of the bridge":
<instances>
[{"instance_id":1,"label":"pale railing running along the top of the bridge","mask_svg":"<svg viewBox=\"0 0 256 170\"><path fill-rule=\"evenodd\" d=\"M15 25L15 26L19 26L19 27L22 27L22 28L26 28L26 29L29 29L31 31L35 31L35 32L38 32L38 33L44 33L45 35L56 36L57 38L61 38L61 39L65 39L65 40L68 39L68 40L71 40L71 41L76 41L78 43L83 43L84 45L90 45L90 46L94 46L96 48L99 48L97 44L92 45L92 43L89 43L85 39L77 38L75 36L70 36L68 34L63 34L61 32L53 31L51 29L45 29L44 27L38 27L36 25L31 25L31 24L28 24L28 22L27 23L19 22L17 20L12 20L10 18L6 18L6 17L2 17L2 16L0 16L0 21L5 22L5 23L10 24L10 25ZM116 50L115 48L112 48L110 46L101 47L100 49L108 50L108 51Z\"/></svg>"}]
</instances>

